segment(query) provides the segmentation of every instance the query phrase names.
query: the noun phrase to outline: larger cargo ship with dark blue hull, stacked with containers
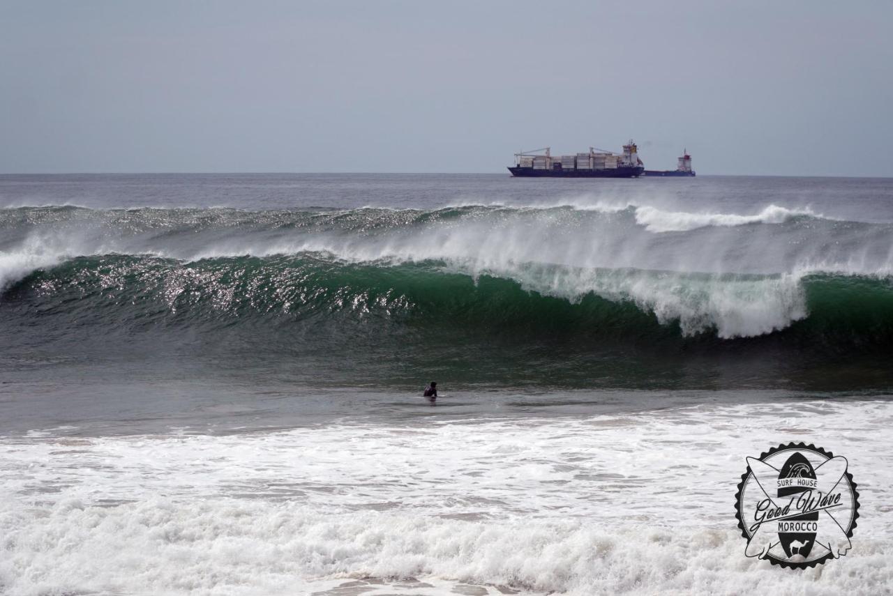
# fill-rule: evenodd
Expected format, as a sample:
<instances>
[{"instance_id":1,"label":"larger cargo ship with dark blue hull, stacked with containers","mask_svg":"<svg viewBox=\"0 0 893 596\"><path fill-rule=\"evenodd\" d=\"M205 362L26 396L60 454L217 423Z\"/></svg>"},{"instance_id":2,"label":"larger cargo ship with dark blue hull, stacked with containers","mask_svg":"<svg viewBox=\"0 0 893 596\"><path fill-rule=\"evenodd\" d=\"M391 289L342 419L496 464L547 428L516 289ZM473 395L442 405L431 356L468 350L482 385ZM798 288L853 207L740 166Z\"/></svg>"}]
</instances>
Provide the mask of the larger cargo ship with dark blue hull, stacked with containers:
<instances>
[{"instance_id":1,"label":"larger cargo ship with dark blue hull, stacked with containers","mask_svg":"<svg viewBox=\"0 0 893 596\"><path fill-rule=\"evenodd\" d=\"M545 153L541 153L545 152ZM589 147L589 153L553 157L550 147L514 154L512 176L535 178L638 178L645 166L630 140L623 153Z\"/></svg>"}]
</instances>

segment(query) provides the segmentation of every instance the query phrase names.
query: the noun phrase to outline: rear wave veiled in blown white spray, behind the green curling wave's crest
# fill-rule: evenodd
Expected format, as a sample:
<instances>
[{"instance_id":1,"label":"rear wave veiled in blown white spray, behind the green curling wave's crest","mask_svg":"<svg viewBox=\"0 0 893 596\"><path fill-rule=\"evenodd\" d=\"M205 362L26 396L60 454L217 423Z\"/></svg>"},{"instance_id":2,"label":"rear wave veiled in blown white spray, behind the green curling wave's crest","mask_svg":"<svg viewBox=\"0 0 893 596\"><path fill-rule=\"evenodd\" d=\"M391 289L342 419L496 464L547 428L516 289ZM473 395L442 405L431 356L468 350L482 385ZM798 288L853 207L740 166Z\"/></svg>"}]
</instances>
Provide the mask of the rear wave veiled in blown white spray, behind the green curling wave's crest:
<instances>
[{"instance_id":1,"label":"rear wave veiled in blown white spray, behind the green curling wave's crest","mask_svg":"<svg viewBox=\"0 0 893 596\"><path fill-rule=\"evenodd\" d=\"M473 261L478 269L539 262L744 274L816 267L855 275L893 270L889 225L826 219L801 225L797 213L805 211L771 206L744 216L619 205L427 211L26 208L0 210L0 251L9 261L7 282L29 262L39 266L111 252L181 261L330 252L346 261ZM654 233L672 229L683 233Z\"/></svg>"}]
</instances>

